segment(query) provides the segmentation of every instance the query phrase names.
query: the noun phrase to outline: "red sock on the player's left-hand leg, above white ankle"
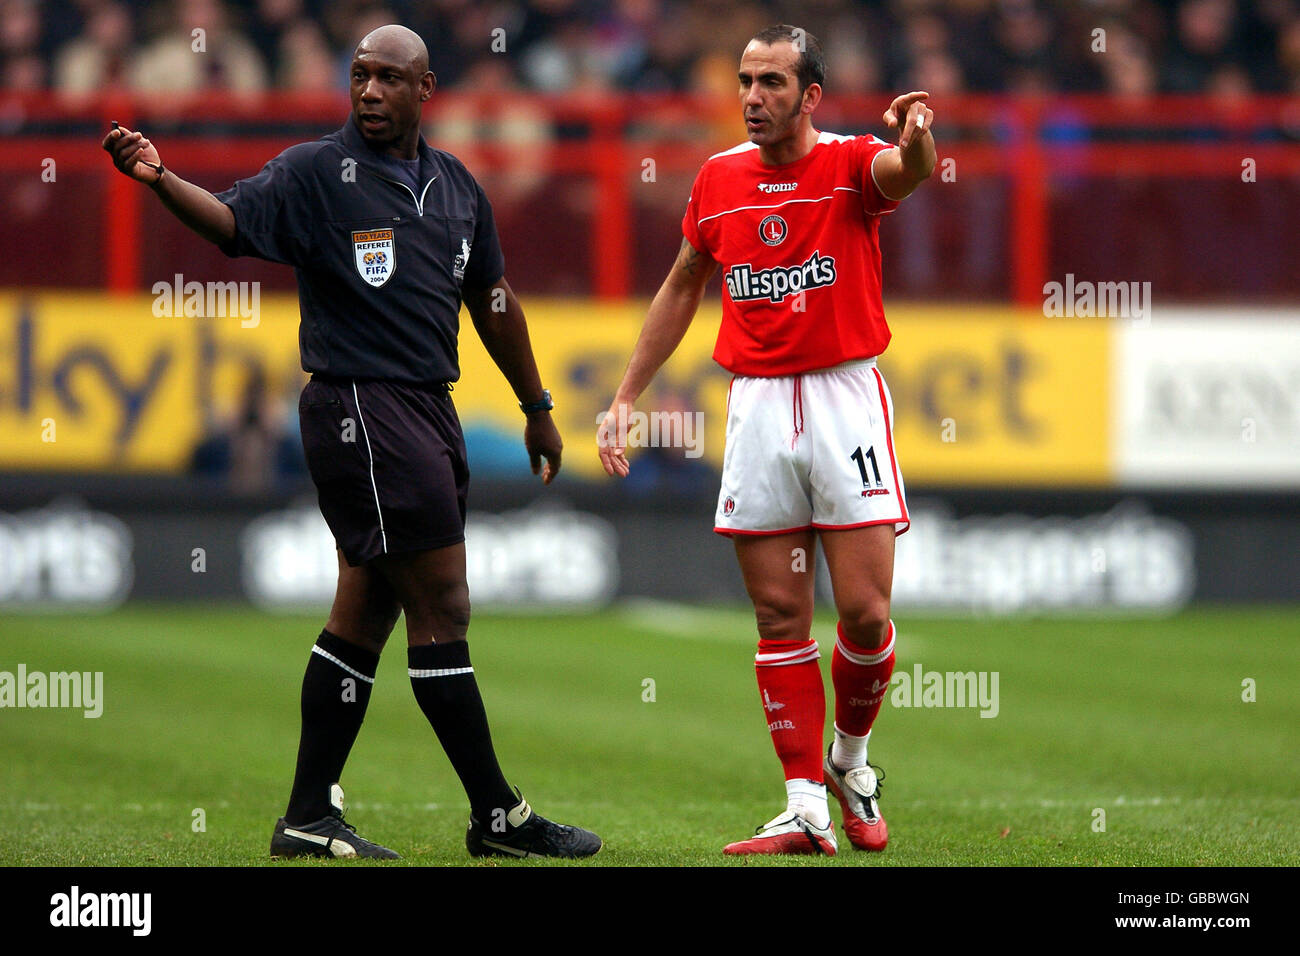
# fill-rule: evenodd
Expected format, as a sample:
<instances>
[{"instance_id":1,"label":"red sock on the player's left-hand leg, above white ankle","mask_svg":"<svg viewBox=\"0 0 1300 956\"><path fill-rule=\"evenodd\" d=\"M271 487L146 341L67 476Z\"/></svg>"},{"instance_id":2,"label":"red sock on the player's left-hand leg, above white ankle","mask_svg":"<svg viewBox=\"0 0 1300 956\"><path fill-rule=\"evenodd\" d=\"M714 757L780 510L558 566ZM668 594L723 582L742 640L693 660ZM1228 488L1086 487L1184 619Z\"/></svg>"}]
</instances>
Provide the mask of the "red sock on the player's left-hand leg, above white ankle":
<instances>
[{"instance_id":1,"label":"red sock on the player's left-hand leg, above white ankle","mask_svg":"<svg viewBox=\"0 0 1300 956\"><path fill-rule=\"evenodd\" d=\"M822 779L826 688L816 641L758 643L754 672L786 780Z\"/></svg>"}]
</instances>

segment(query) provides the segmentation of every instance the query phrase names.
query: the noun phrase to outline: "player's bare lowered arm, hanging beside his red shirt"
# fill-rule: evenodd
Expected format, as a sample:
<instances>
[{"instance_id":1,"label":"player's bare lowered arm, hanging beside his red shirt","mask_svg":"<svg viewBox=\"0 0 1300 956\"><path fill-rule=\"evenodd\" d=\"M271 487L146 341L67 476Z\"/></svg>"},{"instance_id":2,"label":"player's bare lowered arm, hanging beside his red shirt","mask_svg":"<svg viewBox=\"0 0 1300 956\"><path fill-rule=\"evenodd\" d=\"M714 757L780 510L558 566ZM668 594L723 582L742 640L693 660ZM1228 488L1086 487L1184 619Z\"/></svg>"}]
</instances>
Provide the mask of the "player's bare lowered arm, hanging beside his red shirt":
<instances>
[{"instance_id":1,"label":"player's bare lowered arm, hanging beside his red shirt","mask_svg":"<svg viewBox=\"0 0 1300 956\"><path fill-rule=\"evenodd\" d=\"M716 268L718 263L708 252L701 252L689 239L681 241L677 261L668 269L668 277L650 303L628 371L623 373L614 403L595 432L606 475L627 477L627 423L632 405L681 343L681 337L686 334L699 308L705 286Z\"/></svg>"}]
</instances>

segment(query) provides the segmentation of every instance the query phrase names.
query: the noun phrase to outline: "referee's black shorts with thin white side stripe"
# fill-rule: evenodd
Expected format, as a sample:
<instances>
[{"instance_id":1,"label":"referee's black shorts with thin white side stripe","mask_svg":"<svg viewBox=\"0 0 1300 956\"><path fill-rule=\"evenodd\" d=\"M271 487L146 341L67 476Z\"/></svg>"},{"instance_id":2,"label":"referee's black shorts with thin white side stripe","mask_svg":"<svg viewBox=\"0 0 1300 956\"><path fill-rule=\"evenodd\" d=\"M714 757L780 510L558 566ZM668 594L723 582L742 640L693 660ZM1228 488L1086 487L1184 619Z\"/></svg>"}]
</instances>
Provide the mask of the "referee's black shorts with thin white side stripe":
<instances>
[{"instance_id":1,"label":"referee's black shorts with thin white side stripe","mask_svg":"<svg viewBox=\"0 0 1300 956\"><path fill-rule=\"evenodd\" d=\"M465 540L469 463L446 386L313 375L298 416L321 514L348 564Z\"/></svg>"}]
</instances>

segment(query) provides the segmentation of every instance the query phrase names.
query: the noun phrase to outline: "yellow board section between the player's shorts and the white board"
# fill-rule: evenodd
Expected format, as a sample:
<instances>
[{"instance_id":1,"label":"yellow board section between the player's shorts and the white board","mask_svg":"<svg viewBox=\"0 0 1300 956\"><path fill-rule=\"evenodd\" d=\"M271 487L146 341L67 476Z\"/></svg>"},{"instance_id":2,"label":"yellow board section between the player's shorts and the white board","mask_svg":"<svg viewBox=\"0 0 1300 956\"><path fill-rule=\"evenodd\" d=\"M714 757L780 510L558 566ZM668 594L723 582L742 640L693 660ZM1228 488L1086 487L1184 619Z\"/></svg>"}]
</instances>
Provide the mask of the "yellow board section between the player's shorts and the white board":
<instances>
[{"instance_id":1,"label":"yellow board section between the player's shorts and the white board","mask_svg":"<svg viewBox=\"0 0 1300 956\"><path fill-rule=\"evenodd\" d=\"M904 480L1110 483L1115 325L1009 310L893 310L880 369Z\"/></svg>"}]
</instances>

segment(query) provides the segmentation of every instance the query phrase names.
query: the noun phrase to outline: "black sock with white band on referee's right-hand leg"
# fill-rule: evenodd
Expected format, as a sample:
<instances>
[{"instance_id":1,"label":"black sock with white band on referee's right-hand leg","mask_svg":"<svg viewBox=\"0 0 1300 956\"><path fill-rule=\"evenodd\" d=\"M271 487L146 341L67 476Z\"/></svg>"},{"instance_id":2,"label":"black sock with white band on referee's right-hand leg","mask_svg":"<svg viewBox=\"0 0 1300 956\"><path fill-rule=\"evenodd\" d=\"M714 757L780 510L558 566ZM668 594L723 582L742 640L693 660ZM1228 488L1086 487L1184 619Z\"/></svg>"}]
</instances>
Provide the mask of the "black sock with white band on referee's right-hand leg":
<instances>
[{"instance_id":1,"label":"black sock with white band on referee's right-hand leg","mask_svg":"<svg viewBox=\"0 0 1300 956\"><path fill-rule=\"evenodd\" d=\"M407 648L407 659L415 698L460 777L474 817L486 823L498 808L502 813L510 810L519 797L497 763L488 711L469 665L469 645L421 644Z\"/></svg>"}]
</instances>

